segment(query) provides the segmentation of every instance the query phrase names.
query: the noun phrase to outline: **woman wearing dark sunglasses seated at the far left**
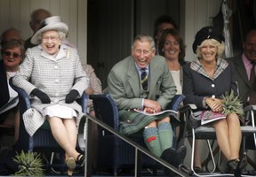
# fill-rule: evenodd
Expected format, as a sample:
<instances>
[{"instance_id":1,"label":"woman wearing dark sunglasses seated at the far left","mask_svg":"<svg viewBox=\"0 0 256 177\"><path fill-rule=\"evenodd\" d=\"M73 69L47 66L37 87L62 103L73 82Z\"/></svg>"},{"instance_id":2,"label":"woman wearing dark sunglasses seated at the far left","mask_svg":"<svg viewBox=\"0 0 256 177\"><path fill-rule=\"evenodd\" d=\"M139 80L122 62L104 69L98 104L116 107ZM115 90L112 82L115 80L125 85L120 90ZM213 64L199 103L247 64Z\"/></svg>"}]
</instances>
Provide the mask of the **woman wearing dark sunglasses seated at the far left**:
<instances>
[{"instance_id":1,"label":"woman wearing dark sunglasses seated at the far left","mask_svg":"<svg viewBox=\"0 0 256 177\"><path fill-rule=\"evenodd\" d=\"M20 112L18 94L9 85L9 79L19 70L24 57L24 47L20 40L5 42L0 60L0 124L14 127L14 142L19 136Z\"/></svg>"}]
</instances>

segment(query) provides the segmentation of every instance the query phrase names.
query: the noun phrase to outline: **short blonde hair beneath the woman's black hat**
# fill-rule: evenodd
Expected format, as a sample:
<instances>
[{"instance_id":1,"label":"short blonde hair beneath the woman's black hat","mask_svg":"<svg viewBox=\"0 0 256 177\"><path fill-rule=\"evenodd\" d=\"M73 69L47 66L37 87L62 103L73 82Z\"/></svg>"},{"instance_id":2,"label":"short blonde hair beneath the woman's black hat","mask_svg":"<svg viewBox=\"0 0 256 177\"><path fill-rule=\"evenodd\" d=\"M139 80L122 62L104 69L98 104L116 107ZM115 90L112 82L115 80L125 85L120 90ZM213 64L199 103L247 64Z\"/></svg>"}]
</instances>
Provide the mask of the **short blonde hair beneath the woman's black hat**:
<instances>
[{"instance_id":1,"label":"short blonde hair beneath the woman's black hat","mask_svg":"<svg viewBox=\"0 0 256 177\"><path fill-rule=\"evenodd\" d=\"M221 57L224 50L225 50L225 43L224 42L218 42L215 39L205 39L204 42L202 42L200 45L197 46L196 48L196 57L197 58L202 58L202 52L201 48L204 46L206 42L209 42L210 45L217 47L217 56L216 57Z\"/></svg>"}]
</instances>

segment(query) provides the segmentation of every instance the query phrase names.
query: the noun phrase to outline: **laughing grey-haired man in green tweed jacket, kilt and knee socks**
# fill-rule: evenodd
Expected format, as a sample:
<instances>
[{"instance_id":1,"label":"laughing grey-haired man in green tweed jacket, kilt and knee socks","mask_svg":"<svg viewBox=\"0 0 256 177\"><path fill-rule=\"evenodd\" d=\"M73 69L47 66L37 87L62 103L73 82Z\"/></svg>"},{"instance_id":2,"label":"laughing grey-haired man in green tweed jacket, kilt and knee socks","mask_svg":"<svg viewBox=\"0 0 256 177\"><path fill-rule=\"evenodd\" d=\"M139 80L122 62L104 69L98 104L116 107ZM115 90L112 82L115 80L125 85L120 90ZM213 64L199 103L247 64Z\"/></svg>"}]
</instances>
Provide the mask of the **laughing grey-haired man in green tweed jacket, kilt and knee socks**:
<instances>
[{"instance_id":1,"label":"laughing grey-haired man in green tweed jacket, kilt and knee socks","mask_svg":"<svg viewBox=\"0 0 256 177\"><path fill-rule=\"evenodd\" d=\"M172 149L170 114L148 116L132 109L155 113L164 110L176 93L176 86L165 59L155 57L152 37L138 35L132 44L132 56L124 58L108 74L108 90L119 110L120 132L131 135L143 130L144 141L153 154L178 167L186 150ZM140 69L146 68L148 88L142 88ZM171 120L170 120L171 119Z\"/></svg>"}]
</instances>

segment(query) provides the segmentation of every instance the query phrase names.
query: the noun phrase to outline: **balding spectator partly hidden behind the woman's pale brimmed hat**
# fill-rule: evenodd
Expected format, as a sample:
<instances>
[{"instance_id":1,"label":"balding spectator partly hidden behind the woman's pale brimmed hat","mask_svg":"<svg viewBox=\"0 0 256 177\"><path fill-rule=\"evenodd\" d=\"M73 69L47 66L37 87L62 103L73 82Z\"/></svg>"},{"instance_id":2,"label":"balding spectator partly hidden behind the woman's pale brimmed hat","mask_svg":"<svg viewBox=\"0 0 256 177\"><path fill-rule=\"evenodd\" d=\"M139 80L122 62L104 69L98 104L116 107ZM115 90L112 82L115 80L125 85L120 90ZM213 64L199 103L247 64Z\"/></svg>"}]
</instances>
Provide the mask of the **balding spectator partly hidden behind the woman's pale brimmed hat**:
<instances>
[{"instance_id":1,"label":"balding spectator partly hidden behind the woman's pale brimmed hat","mask_svg":"<svg viewBox=\"0 0 256 177\"><path fill-rule=\"evenodd\" d=\"M36 34L36 31L38 31L40 29L40 22L43 19L46 19L51 16L52 16L51 12L48 12L45 9L36 9L34 12L31 13L29 27L32 29L33 35ZM30 42L31 37L29 37L25 41L25 50L36 46L35 44Z\"/></svg>"}]
</instances>

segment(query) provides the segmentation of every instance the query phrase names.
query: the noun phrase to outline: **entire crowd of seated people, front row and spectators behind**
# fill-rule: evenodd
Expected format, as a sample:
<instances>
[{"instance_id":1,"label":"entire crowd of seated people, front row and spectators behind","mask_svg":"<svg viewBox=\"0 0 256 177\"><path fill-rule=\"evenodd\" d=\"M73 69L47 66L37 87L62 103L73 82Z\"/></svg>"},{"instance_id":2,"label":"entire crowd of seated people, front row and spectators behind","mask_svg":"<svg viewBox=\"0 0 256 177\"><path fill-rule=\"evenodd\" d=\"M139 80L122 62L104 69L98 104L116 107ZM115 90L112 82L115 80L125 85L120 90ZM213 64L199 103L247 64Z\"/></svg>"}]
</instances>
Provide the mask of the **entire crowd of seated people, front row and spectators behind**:
<instances>
[{"instance_id":1,"label":"entire crowd of seated people, front row and spectators behind","mask_svg":"<svg viewBox=\"0 0 256 177\"><path fill-rule=\"evenodd\" d=\"M15 127L14 143L19 138L20 112L18 94L10 87L24 89L30 96L33 113L24 113L22 119L29 135L48 121L52 135L65 150L68 175L76 165L84 165L84 155L76 150L79 120L84 116L76 103L85 92L101 94L100 80L92 65L82 65L76 46L68 42L68 26L59 16L38 9L31 14L29 23L33 35L24 41L20 31L11 27L1 35L1 100L0 123ZM116 63L108 73L108 94L114 99L119 112L120 133L139 133L152 154L191 175L202 172L198 141L196 141L194 168L183 165L187 154L184 144L173 144L180 136L180 128L172 129L179 116L154 115L163 111L175 95L186 96L180 104L196 104L198 116L205 112L222 112L225 94L235 93L245 105L256 104L255 60L256 30L244 39L244 52L234 58L223 58L224 37L214 27L203 27L195 35L192 49L196 60L185 61L186 46L175 20L168 15L156 19L154 35L136 35L131 55ZM67 69L68 68L68 69ZM49 74L51 73L51 74ZM139 112L140 109L153 115ZM95 117L92 100L88 115ZM225 114L207 125L216 130L217 142L228 163L225 173L241 176L246 160L239 157L242 142L240 126L243 118L234 112ZM92 125L93 156L97 158L98 130ZM61 131L60 131L61 130ZM96 161L93 166L96 168ZM172 175L164 168L164 173Z\"/></svg>"}]
</instances>

